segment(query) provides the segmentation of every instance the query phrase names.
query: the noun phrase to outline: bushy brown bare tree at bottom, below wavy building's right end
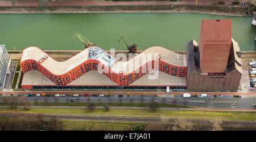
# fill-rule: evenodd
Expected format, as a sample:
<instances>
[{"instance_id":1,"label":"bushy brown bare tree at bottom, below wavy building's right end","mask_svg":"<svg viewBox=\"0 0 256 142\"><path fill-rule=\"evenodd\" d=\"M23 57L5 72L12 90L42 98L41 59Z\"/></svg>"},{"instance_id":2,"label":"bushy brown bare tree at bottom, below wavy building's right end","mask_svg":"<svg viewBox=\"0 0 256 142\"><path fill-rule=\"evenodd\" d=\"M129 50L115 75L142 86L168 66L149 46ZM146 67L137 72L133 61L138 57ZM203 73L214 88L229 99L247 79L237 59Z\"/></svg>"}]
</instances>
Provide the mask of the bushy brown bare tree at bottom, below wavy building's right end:
<instances>
[{"instance_id":1,"label":"bushy brown bare tree at bottom, below wavy building's right end","mask_svg":"<svg viewBox=\"0 0 256 142\"><path fill-rule=\"evenodd\" d=\"M174 131L192 131L193 124L185 118L178 118L175 121L175 125L172 127Z\"/></svg>"}]
</instances>

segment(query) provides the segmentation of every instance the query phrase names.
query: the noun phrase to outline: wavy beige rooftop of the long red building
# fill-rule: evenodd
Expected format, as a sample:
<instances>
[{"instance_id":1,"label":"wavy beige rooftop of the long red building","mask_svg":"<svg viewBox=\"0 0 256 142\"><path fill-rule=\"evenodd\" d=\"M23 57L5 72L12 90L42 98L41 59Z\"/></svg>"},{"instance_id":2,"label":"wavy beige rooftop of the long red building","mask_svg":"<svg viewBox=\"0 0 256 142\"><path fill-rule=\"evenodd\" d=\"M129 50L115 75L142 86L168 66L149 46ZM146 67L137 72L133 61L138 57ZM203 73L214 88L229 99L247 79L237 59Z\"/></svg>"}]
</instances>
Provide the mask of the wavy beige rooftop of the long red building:
<instances>
[{"instance_id":1,"label":"wavy beige rooftop of the long red building","mask_svg":"<svg viewBox=\"0 0 256 142\"><path fill-rule=\"evenodd\" d=\"M127 75L148 61L157 59L158 55L160 55L160 60L164 62L175 66L187 67L186 54L178 54L160 46L148 48L129 61L118 61L106 53L105 50L97 46L91 46L63 62L56 61L38 47L28 47L23 50L20 62L26 61L27 59L33 59L39 62L43 57L48 57L40 64L52 72L52 74L63 75L89 59L96 59L105 66L110 67L115 73L119 74L122 71L123 75Z\"/></svg>"}]
</instances>

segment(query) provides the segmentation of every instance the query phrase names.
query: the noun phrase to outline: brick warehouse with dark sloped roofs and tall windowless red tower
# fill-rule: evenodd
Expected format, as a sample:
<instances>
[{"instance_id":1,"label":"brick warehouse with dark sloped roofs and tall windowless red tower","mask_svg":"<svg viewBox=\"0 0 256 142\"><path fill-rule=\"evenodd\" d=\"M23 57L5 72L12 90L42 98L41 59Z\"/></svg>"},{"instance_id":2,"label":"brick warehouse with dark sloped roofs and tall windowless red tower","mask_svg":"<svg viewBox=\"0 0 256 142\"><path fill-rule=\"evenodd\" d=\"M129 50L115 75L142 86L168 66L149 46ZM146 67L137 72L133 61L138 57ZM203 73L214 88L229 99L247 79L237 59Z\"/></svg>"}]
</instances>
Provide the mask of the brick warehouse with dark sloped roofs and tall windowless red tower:
<instances>
[{"instance_id":1,"label":"brick warehouse with dark sloped roofs and tall windowless red tower","mask_svg":"<svg viewBox=\"0 0 256 142\"><path fill-rule=\"evenodd\" d=\"M231 36L232 20L202 20L199 44L187 44L190 90L237 90L242 76L238 43Z\"/></svg>"}]
</instances>

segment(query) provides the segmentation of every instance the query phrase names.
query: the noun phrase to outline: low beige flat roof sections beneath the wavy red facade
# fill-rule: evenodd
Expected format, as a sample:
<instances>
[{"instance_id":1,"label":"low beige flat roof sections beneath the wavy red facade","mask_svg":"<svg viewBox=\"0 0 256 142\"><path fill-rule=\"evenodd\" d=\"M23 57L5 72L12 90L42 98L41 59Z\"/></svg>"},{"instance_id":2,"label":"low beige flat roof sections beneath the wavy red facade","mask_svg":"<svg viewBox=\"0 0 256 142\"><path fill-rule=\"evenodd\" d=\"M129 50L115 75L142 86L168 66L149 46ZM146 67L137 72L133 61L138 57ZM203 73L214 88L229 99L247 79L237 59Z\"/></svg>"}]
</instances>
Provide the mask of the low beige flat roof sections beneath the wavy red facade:
<instances>
[{"instance_id":1,"label":"low beige flat roof sections beneath the wavy red facade","mask_svg":"<svg viewBox=\"0 0 256 142\"><path fill-rule=\"evenodd\" d=\"M154 72L148 73L138 80L131 83L129 86L187 86L187 78L185 77L176 77L172 75L168 75L164 72L159 71L158 78L156 79L148 79L148 76L152 75ZM57 86L51 80L49 80L46 76L41 74L41 72L37 70L31 70L26 72L23 75L22 85L46 85L46 86ZM80 76L76 80L65 86L119 86L114 83L111 79L109 79L104 74L96 70L88 71L86 74Z\"/></svg>"}]
</instances>

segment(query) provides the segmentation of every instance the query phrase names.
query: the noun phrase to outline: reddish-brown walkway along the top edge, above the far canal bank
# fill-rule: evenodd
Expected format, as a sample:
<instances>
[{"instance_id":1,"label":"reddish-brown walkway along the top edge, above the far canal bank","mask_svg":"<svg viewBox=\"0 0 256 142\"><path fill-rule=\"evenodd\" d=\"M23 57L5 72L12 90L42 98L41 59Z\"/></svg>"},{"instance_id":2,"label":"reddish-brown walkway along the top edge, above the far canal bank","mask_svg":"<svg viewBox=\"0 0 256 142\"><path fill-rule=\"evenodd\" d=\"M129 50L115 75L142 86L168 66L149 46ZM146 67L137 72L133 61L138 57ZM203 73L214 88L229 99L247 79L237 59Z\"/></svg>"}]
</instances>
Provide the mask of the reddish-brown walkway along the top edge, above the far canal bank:
<instances>
[{"instance_id":1,"label":"reddish-brown walkway along the top edge, above the far canal bank","mask_svg":"<svg viewBox=\"0 0 256 142\"><path fill-rule=\"evenodd\" d=\"M246 0L239 0L240 5L236 7L242 7L242 2ZM232 5L233 0L226 0L225 5ZM212 6L214 3L212 0L197 1L196 0L183 0L183 1L0 1L0 6L134 6L134 5L205 5ZM233 5L232 5L233 7Z\"/></svg>"}]
</instances>

